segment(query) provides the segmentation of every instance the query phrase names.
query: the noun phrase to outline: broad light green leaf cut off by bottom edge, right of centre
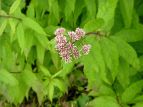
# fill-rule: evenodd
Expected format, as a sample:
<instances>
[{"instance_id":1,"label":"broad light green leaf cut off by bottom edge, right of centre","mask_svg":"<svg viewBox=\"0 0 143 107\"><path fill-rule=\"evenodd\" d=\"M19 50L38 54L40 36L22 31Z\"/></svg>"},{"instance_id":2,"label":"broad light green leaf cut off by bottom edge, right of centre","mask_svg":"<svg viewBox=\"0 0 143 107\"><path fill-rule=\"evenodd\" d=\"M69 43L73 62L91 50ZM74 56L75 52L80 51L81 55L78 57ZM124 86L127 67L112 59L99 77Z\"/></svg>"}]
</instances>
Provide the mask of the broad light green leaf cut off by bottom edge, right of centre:
<instances>
[{"instance_id":1,"label":"broad light green leaf cut off by bottom edge, right of centre","mask_svg":"<svg viewBox=\"0 0 143 107\"><path fill-rule=\"evenodd\" d=\"M120 105L114 97L101 96L89 102L87 107L120 107Z\"/></svg>"}]
</instances>

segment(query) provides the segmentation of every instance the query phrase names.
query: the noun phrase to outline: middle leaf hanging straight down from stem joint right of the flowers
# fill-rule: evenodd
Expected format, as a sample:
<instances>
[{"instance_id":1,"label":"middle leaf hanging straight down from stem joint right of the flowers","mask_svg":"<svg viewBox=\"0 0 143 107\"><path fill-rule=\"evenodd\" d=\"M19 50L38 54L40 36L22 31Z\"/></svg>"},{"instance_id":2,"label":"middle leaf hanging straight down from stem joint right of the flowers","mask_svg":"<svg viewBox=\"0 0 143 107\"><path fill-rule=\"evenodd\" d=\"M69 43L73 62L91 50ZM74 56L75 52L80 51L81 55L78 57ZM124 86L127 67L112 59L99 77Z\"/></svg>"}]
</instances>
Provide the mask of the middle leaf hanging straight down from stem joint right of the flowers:
<instances>
[{"instance_id":1,"label":"middle leaf hanging straight down from stem joint right of the flowers","mask_svg":"<svg viewBox=\"0 0 143 107\"><path fill-rule=\"evenodd\" d=\"M119 65L119 53L116 44L108 38L102 38L102 40L100 40L100 45L106 66L110 70L114 81L118 73Z\"/></svg>"}]
</instances>

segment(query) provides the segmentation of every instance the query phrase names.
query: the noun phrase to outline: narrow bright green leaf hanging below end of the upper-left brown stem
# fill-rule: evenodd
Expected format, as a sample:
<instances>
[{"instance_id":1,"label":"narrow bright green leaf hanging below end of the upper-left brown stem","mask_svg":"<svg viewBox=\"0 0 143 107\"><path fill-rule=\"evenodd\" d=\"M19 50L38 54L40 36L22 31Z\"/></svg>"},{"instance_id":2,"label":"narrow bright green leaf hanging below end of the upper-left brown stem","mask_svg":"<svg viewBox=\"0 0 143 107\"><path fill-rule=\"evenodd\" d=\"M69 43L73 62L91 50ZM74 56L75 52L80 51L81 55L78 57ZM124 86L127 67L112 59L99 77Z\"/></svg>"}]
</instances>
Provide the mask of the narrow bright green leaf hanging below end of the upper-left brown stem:
<instances>
[{"instance_id":1,"label":"narrow bright green leaf hanging below end of the upper-left brown stem","mask_svg":"<svg viewBox=\"0 0 143 107\"><path fill-rule=\"evenodd\" d=\"M21 23L19 23L19 25L17 26L17 39L18 39L19 46L23 52L26 47L25 46L26 43L25 43L24 29Z\"/></svg>"}]
</instances>

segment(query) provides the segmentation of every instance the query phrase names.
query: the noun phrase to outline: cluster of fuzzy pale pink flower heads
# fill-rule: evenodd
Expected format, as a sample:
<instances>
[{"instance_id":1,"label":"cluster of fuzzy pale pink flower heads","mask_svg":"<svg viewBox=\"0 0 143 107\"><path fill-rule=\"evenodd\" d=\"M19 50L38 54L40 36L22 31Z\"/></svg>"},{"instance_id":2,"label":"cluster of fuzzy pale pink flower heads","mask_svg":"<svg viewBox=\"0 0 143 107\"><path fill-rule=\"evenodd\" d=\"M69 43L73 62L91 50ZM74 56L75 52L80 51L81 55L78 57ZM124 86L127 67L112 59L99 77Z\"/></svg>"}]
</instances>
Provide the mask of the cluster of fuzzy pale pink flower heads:
<instances>
[{"instance_id":1,"label":"cluster of fuzzy pale pink flower heads","mask_svg":"<svg viewBox=\"0 0 143 107\"><path fill-rule=\"evenodd\" d=\"M83 55L87 55L90 51L91 45L86 44L82 46L82 49L79 51L78 47L75 46L74 42L80 40L85 36L85 31L81 28L76 28L75 32L68 32L69 41L64 35L65 29L58 28L55 31L55 41L56 41L56 49L59 52L61 58L69 63L71 60L78 59L80 57L80 51L82 51Z\"/></svg>"}]
</instances>

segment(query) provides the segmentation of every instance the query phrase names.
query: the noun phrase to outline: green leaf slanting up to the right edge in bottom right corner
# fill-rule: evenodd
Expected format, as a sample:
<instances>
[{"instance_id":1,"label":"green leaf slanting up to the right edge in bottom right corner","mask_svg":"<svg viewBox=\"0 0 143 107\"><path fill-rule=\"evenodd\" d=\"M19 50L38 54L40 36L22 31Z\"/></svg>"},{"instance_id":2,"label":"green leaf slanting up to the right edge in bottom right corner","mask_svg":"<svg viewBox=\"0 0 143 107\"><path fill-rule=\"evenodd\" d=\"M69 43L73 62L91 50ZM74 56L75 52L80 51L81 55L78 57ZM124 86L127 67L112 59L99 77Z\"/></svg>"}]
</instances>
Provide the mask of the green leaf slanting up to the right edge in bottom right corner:
<instances>
[{"instance_id":1,"label":"green leaf slanting up to the right edge in bottom right corner","mask_svg":"<svg viewBox=\"0 0 143 107\"><path fill-rule=\"evenodd\" d=\"M143 80L131 84L122 94L124 103L131 102L143 89Z\"/></svg>"}]
</instances>

